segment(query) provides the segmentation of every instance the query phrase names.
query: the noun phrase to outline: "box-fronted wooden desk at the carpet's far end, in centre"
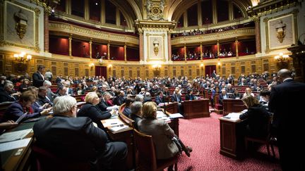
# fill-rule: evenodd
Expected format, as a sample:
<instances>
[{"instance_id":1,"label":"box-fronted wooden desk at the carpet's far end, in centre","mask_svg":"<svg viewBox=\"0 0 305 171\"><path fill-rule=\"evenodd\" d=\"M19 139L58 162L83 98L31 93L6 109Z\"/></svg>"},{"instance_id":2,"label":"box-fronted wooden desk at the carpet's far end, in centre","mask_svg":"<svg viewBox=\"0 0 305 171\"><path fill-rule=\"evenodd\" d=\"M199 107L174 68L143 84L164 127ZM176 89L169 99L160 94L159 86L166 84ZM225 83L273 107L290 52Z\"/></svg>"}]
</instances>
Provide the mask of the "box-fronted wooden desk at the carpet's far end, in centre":
<instances>
[{"instance_id":1,"label":"box-fronted wooden desk at the carpet's far end, in centre","mask_svg":"<svg viewBox=\"0 0 305 171\"><path fill-rule=\"evenodd\" d=\"M181 105L186 119L210 117L208 99L182 101Z\"/></svg>"}]
</instances>

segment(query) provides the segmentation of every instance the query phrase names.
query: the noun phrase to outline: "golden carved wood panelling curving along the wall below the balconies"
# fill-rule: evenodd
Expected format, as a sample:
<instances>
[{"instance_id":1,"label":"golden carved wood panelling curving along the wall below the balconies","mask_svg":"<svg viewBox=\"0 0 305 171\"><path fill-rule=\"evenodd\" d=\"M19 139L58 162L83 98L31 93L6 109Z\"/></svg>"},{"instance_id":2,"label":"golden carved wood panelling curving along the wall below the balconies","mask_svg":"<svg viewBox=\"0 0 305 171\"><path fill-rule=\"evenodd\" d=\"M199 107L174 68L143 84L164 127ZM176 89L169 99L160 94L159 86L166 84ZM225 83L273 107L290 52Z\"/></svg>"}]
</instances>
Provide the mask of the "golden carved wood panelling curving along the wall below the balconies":
<instances>
[{"instance_id":1,"label":"golden carved wood panelling curving along the wall below the balconies","mask_svg":"<svg viewBox=\"0 0 305 171\"><path fill-rule=\"evenodd\" d=\"M186 76L191 78L205 75L205 65L216 65L217 74L222 76L228 76L229 74L234 77L239 77L241 74L250 75L253 72L261 74L264 71L270 73L277 72L277 65L273 56L254 58L251 57L239 57L239 58L225 58L217 60L207 61L193 61L193 62L173 62L168 65L162 65L160 68L160 77L169 76ZM217 65L220 62L221 65ZM0 74L5 75L15 74L23 75L28 72L32 75L36 72L38 65L44 65L47 69L50 69L56 77L56 75L72 76L72 77L83 77L83 76L94 76L95 69L90 68L89 63L95 63L100 65L97 61L90 58L77 58L71 56L55 56L55 57L37 57L33 56L32 60L28 63L20 66L20 63L16 63L13 58L13 54L0 51ZM203 67L201 64L203 63ZM112 67L109 67L112 64ZM152 70L152 65L143 65L140 63L119 63L111 61L111 63L103 63L103 66L107 66L107 75L116 77L141 77L141 78L152 78L155 73ZM289 63L289 68L292 68L292 60ZM24 70L24 72L20 72Z\"/></svg>"}]
</instances>

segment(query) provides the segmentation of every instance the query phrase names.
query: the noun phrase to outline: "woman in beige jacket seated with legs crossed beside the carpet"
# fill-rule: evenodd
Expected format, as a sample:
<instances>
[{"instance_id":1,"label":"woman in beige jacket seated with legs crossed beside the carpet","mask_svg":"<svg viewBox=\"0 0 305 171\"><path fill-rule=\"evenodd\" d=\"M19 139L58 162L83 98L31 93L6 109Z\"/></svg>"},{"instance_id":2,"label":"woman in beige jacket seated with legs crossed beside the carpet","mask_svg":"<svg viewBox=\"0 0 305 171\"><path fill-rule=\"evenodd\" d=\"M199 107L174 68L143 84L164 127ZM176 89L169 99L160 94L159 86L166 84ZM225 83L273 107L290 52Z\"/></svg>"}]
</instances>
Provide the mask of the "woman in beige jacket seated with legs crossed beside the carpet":
<instances>
[{"instance_id":1,"label":"woman in beige jacket seated with legs crossed beside the carpet","mask_svg":"<svg viewBox=\"0 0 305 171\"><path fill-rule=\"evenodd\" d=\"M184 146L165 120L157 120L157 104L149 101L143 104L143 120L138 122L138 129L144 134L152 136L155 144L157 159L172 158L184 151L187 156L191 154L191 147Z\"/></svg>"}]
</instances>

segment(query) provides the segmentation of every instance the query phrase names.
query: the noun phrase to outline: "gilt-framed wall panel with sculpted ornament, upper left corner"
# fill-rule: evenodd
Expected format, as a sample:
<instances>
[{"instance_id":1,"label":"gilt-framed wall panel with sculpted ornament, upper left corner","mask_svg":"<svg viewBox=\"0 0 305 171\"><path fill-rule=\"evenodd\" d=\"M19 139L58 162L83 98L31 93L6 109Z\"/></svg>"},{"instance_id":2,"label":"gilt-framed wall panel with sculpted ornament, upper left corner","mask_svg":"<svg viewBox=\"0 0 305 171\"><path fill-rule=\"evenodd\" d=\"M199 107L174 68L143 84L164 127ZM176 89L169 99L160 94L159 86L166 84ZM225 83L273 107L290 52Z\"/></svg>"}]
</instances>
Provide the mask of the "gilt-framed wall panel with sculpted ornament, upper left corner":
<instances>
[{"instance_id":1,"label":"gilt-framed wall panel with sculpted ornament, upper left corner","mask_svg":"<svg viewBox=\"0 0 305 171\"><path fill-rule=\"evenodd\" d=\"M17 46L40 51L40 9L20 4L17 1L1 1L4 7L4 26L1 30L0 46ZM14 22L12 22L14 21Z\"/></svg>"}]
</instances>

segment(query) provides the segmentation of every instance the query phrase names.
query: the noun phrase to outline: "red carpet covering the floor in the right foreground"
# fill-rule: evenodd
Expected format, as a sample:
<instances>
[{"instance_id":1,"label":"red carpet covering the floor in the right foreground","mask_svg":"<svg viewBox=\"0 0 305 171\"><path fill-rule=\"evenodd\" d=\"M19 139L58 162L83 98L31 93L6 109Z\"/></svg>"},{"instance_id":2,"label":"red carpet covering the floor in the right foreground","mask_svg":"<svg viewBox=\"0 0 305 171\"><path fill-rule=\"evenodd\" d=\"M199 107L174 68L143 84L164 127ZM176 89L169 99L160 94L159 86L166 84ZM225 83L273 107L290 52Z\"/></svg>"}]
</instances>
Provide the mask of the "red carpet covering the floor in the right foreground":
<instances>
[{"instance_id":1,"label":"red carpet covering the floor in the right foreground","mask_svg":"<svg viewBox=\"0 0 305 171\"><path fill-rule=\"evenodd\" d=\"M193 152L188 158L183 154L179 158L179 170L281 170L278 160L272 161L267 156L265 146L261 155L252 155L244 160L234 160L222 156L220 151L220 122L222 115L211 113L210 118L179 120L179 137L191 146ZM278 159L277 147L275 155Z\"/></svg>"}]
</instances>

